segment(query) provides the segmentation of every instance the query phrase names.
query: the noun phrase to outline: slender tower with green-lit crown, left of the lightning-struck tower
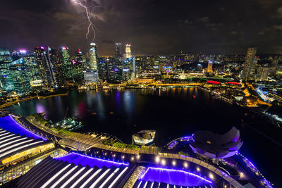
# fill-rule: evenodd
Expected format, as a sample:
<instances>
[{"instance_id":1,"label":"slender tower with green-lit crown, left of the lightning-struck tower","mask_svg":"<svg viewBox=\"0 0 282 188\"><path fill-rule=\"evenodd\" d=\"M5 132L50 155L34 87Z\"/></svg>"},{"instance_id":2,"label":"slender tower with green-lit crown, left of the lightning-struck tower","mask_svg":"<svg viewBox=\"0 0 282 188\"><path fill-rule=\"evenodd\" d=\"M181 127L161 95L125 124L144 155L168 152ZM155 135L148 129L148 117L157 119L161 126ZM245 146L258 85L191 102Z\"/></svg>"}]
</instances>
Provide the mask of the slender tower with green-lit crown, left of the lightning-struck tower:
<instances>
[{"instance_id":1,"label":"slender tower with green-lit crown, left of the lightning-struck tower","mask_svg":"<svg viewBox=\"0 0 282 188\"><path fill-rule=\"evenodd\" d=\"M63 75L65 76L66 82L73 81L73 65L71 63L68 47L61 47L61 61L63 61Z\"/></svg>"}]
</instances>

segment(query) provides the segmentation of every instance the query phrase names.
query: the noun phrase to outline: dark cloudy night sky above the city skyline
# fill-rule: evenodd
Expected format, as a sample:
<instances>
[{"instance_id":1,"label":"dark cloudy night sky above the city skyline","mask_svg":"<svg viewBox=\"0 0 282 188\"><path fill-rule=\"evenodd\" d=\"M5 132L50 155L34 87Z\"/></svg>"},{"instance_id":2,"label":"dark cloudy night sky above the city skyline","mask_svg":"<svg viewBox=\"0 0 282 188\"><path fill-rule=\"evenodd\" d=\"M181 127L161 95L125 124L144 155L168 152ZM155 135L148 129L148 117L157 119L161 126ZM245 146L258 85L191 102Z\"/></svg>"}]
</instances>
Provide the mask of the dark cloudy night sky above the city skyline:
<instances>
[{"instance_id":1,"label":"dark cloudy night sky above the city skyline","mask_svg":"<svg viewBox=\"0 0 282 188\"><path fill-rule=\"evenodd\" d=\"M78 0L77 0L78 1ZM100 55L116 42L133 54L282 54L282 1L88 0ZM87 50L85 9L73 0L1 0L0 46Z\"/></svg>"}]
</instances>

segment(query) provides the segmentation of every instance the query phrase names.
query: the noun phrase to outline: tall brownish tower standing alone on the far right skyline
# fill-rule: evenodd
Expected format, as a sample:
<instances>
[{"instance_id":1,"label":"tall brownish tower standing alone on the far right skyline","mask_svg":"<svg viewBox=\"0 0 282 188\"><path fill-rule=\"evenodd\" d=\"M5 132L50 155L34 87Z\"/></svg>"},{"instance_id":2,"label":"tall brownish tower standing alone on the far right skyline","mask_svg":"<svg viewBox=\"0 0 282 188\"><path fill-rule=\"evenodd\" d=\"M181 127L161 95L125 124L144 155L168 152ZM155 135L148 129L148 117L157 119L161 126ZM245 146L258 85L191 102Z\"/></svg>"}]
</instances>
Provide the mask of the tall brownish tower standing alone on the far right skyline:
<instances>
[{"instance_id":1,"label":"tall brownish tower standing alone on the far right skyline","mask_svg":"<svg viewBox=\"0 0 282 188\"><path fill-rule=\"evenodd\" d=\"M255 72L255 66L256 66L256 59L255 54L257 53L257 48L249 48L247 49L247 56L244 64L243 69L243 79L250 79L253 78L253 73Z\"/></svg>"}]
</instances>

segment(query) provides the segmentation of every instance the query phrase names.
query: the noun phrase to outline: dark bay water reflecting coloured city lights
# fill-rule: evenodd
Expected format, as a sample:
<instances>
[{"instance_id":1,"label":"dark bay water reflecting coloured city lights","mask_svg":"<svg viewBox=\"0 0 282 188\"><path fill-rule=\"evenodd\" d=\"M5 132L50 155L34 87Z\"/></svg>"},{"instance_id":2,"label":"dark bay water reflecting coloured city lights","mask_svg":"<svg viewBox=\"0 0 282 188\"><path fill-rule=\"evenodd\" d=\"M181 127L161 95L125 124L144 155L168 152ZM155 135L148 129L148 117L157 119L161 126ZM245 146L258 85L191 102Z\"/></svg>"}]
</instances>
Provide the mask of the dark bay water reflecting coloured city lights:
<instances>
[{"instance_id":1,"label":"dark bay water reflecting coloured city lights","mask_svg":"<svg viewBox=\"0 0 282 188\"><path fill-rule=\"evenodd\" d=\"M246 109L227 104L197 88L72 91L68 96L25 101L6 109L20 115L44 111L45 118L54 123L63 120L65 115L75 116L85 125L80 132L106 132L128 143L135 132L156 130L157 146L196 130L223 134L235 126L241 130L244 140L240 153L250 158L268 180L281 184L280 173L276 173L282 166L278 154L281 146L267 138L282 136L281 130Z\"/></svg>"}]
</instances>

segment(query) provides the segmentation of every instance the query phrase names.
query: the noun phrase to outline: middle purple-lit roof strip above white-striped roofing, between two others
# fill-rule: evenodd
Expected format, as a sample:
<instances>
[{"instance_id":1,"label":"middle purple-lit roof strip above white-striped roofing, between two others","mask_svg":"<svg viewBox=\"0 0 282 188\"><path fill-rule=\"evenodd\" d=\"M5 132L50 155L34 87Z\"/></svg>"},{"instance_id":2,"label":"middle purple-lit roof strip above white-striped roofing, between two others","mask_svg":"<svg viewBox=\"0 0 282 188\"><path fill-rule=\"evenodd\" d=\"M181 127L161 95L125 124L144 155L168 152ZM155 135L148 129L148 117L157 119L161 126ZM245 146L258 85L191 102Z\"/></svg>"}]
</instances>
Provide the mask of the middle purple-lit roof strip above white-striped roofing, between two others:
<instances>
[{"instance_id":1,"label":"middle purple-lit roof strip above white-striped roofing, between two others","mask_svg":"<svg viewBox=\"0 0 282 188\"><path fill-rule=\"evenodd\" d=\"M106 166L107 168L110 168L111 166L120 166L120 165L128 165L128 163L118 163L115 161L108 161L100 158L94 158L90 156L84 156L79 153L68 153L66 156L62 156L59 158L56 158L60 161L68 161L68 163L74 163L75 165L89 165L90 167L94 167L97 165L97 167L102 168L102 166Z\"/></svg>"}]
</instances>

